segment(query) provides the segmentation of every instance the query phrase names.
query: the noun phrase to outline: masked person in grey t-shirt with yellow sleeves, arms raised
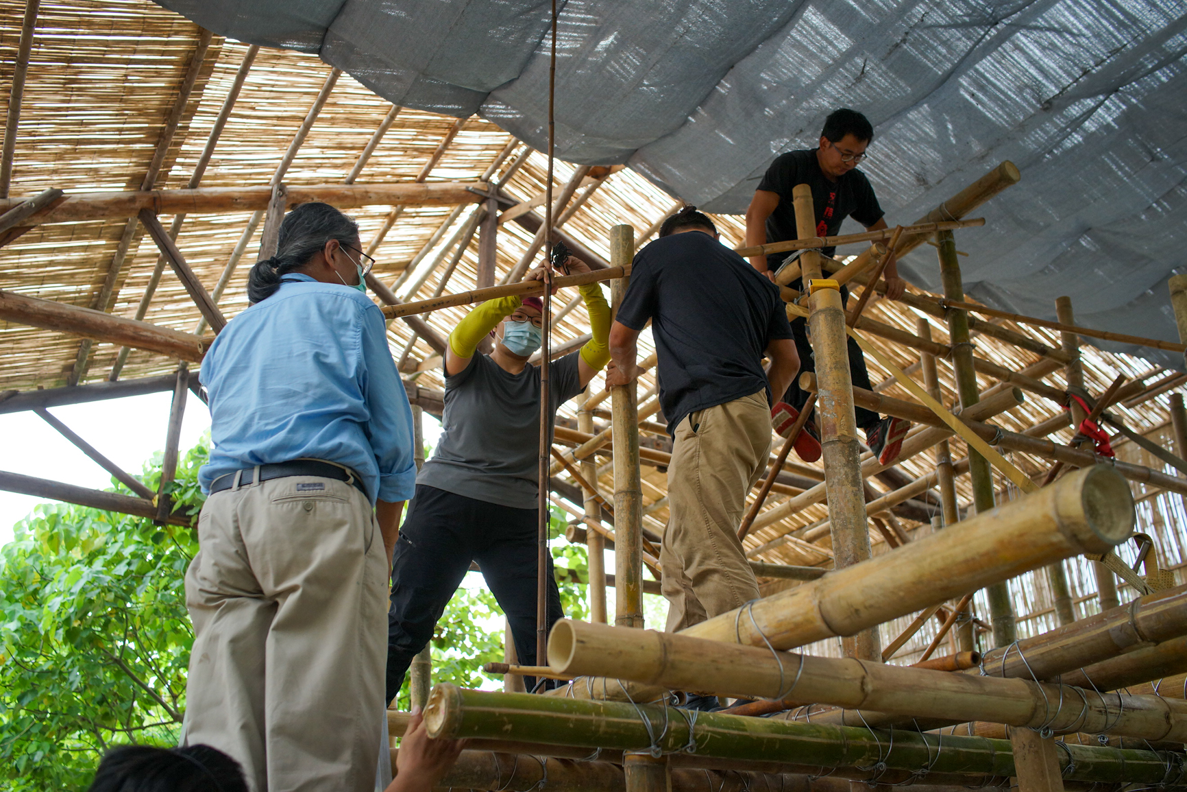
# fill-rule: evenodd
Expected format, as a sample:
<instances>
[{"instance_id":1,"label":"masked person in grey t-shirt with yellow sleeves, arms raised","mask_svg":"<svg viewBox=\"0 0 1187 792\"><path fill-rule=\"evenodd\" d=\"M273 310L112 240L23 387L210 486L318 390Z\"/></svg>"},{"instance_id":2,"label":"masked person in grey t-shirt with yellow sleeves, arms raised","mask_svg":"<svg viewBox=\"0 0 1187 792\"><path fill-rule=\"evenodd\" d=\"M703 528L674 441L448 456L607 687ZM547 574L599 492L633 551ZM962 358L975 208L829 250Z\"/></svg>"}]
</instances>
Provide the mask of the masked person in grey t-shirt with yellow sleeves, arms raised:
<instances>
[{"instance_id":1,"label":"masked person in grey t-shirt with yellow sleeves, arms raised","mask_svg":"<svg viewBox=\"0 0 1187 792\"><path fill-rule=\"evenodd\" d=\"M589 272L575 258L567 267L573 274ZM535 270L527 279L541 277ZM580 293L592 338L550 368L550 435L557 408L610 359L610 306L602 287L586 284ZM507 614L520 663L537 663L540 369L528 359L540 348L542 308L538 297L488 300L449 336L442 436L417 476L417 494L392 562L388 702L400 692L412 658L432 638L471 560ZM494 337L494 351L476 354L487 334ZM552 575L548 579L551 627L564 614L556 581Z\"/></svg>"}]
</instances>

